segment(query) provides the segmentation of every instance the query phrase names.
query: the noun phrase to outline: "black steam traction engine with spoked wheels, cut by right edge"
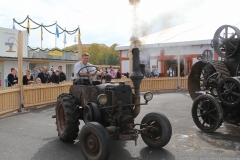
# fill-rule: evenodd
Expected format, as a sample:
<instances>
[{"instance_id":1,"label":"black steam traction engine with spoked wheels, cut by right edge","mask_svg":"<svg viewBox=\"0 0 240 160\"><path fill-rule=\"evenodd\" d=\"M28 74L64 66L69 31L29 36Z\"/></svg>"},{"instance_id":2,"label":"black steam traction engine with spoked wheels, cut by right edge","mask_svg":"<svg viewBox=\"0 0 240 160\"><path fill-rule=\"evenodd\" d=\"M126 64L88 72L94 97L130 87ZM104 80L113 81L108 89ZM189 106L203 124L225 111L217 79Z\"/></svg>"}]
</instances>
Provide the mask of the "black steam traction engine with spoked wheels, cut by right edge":
<instances>
[{"instance_id":1,"label":"black steam traction engine with spoked wheels, cut by right edge","mask_svg":"<svg viewBox=\"0 0 240 160\"><path fill-rule=\"evenodd\" d=\"M194 101L192 117L204 132L215 131L223 122L240 125L240 30L230 25L219 27L212 47L221 60L195 63L188 77Z\"/></svg>"}]
</instances>

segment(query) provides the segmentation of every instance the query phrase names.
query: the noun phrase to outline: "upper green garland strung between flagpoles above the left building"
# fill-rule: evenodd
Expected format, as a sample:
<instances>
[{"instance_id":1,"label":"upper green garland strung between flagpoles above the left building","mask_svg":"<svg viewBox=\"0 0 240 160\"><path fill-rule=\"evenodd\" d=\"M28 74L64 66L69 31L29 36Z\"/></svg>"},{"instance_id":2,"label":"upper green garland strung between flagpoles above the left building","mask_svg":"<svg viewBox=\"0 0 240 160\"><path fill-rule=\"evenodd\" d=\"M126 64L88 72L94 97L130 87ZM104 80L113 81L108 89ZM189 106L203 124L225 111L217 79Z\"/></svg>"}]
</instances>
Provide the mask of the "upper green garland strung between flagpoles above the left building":
<instances>
[{"instance_id":1,"label":"upper green garland strung between flagpoles above the left building","mask_svg":"<svg viewBox=\"0 0 240 160\"><path fill-rule=\"evenodd\" d=\"M35 25L37 25L37 27L33 27L33 28L31 28L30 27L30 22L29 22L29 20L31 21L31 22L33 22ZM25 26L23 26L22 24L24 23L24 22L26 22L27 21L27 27L25 27ZM66 30L66 29L63 29L61 26L59 26L58 24L57 24L57 22L55 22L55 23L53 23L53 24L50 24L50 25L43 25L43 24L39 24L39 23L37 23L37 22L35 22L34 20L32 20L29 16L27 16L22 22L18 22L18 21L16 21L15 20L15 18L13 18L13 29L15 29L15 24L14 23L17 23L19 26L21 26L22 28L25 28L25 29L27 29L27 31L28 31L28 33L30 33L30 29L31 30L33 30L33 29L38 29L39 27L41 27L41 28L44 28L46 31L48 31L49 33L51 33L51 34L54 34L54 35L57 35L58 37L59 37L59 34L62 34L62 33L68 33L68 34L70 34L70 35L73 35L73 34L75 34L77 31L79 32L79 34L80 34L80 28L79 28L79 26L76 28L76 29L74 29L74 30L72 30L72 31L68 31L68 30ZM56 25L56 33L54 33L54 32L51 32L49 29L47 29L48 27L52 27L52 26L54 26L54 25ZM58 32L58 28L60 28L62 31L61 32Z\"/></svg>"}]
</instances>

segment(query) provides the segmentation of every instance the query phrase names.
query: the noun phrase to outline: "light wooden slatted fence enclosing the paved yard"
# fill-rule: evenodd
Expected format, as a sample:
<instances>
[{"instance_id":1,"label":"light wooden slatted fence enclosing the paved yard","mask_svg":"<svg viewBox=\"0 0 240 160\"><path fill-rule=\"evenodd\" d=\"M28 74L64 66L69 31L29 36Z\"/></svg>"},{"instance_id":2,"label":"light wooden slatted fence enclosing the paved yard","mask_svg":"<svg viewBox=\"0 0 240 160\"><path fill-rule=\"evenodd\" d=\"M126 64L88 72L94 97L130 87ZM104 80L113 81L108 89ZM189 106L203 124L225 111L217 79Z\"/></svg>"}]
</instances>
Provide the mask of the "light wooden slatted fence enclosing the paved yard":
<instances>
[{"instance_id":1,"label":"light wooden slatted fence enclosing the paved yard","mask_svg":"<svg viewBox=\"0 0 240 160\"><path fill-rule=\"evenodd\" d=\"M116 83L125 81L133 86L129 78L114 79ZM60 84L41 84L23 86L24 109L46 106L56 102L61 93L69 93L72 82ZM164 91L177 90L177 77L146 78L142 80L140 91ZM180 89L187 90L187 78L180 78ZM0 116L14 111L20 111L20 88L19 86L0 88Z\"/></svg>"}]
</instances>

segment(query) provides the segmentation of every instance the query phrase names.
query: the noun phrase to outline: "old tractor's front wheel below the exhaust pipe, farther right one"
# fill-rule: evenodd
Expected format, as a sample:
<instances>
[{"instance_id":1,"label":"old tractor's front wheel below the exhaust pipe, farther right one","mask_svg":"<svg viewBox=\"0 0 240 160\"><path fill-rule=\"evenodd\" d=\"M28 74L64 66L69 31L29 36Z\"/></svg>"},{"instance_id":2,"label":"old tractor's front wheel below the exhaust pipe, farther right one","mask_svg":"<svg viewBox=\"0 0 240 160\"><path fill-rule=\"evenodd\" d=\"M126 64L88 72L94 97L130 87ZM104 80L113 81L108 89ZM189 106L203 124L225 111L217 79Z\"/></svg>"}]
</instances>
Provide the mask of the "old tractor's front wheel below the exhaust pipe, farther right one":
<instances>
[{"instance_id":1,"label":"old tractor's front wheel below the exhaust pipe, farther right one","mask_svg":"<svg viewBox=\"0 0 240 160\"><path fill-rule=\"evenodd\" d=\"M167 117L161 113L149 113L143 117L141 124L152 126L148 129L148 133L141 133L143 141L153 148L164 147L171 139L172 126ZM142 125L140 129L144 129L146 125Z\"/></svg>"}]
</instances>

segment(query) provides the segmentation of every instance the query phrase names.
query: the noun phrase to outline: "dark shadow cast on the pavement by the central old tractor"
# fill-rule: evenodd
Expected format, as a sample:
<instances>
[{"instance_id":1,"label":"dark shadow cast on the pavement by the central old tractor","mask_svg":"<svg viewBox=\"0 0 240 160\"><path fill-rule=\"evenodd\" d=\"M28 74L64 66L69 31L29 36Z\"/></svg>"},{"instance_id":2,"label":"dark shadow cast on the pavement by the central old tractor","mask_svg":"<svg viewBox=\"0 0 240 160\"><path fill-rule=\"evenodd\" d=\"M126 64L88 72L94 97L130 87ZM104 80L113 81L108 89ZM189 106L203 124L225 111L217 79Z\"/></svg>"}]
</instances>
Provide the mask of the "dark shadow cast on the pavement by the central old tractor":
<instances>
[{"instance_id":1,"label":"dark shadow cast on the pavement by the central old tractor","mask_svg":"<svg viewBox=\"0 0 240 160\"><path fill-rule=\"evenodd\" d=\"M32 160L84 160L80 150L80 142L78 140L76 140L75 143L64 143L57 137L47 140L51 141L43 145L38 152L34 154ZM153 149L145 147L140 150L140 156L133 157L130 153L131 149L125 148L127 142L111 140L110 143L111 155L109 160L175 160L174 155L165 149ZM135 150L135 146L133 150ZM139 153L136 154L139 155Z\"/></svg>"}]
</instances>

